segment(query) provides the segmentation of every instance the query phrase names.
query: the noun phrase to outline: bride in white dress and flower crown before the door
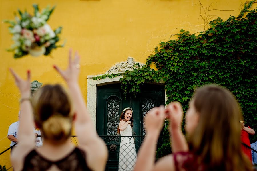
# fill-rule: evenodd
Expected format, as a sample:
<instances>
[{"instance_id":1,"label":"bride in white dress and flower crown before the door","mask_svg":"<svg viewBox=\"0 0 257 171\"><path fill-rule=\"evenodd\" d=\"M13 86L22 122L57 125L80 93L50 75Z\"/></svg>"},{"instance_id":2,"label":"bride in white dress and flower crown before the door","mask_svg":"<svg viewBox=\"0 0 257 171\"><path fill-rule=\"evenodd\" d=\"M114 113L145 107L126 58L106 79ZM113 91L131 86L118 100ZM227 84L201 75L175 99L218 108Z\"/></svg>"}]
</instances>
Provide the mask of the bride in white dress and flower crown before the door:
<instances>
[{"instance_id":1,"label":"bride in white dress and flower crown before the door","mask_svg":"<svg viewBox=\"0 0 257 171\"><path fill-rule=\"evenodd\" d=\"M133 110L126 107L119 118L118 133L121 136L132 136ZM119 147L119 171L134 170L137 153L133 137L121 137Z\"/></svg>"}]
</instances>

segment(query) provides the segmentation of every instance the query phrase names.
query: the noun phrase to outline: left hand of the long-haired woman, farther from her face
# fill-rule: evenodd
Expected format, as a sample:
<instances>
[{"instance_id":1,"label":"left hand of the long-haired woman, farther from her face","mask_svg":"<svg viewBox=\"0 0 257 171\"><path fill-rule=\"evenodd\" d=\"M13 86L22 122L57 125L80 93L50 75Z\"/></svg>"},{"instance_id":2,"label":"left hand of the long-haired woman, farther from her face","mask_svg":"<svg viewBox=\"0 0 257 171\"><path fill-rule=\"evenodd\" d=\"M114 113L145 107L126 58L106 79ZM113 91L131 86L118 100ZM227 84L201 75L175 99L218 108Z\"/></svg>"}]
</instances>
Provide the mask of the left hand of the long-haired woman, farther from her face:
<instances>
[{"instance_id":1,"label":"left hand of the long-haired woman, farther from her face","mask_svg":"<svg viewBox=\"0 0 257 171\"><path fill-rule=\"evenodd\" d=\"M146 116L145 127L148 133L160 133L165 119L164 106L154 107Z\"/></svg>"}]
</instances>

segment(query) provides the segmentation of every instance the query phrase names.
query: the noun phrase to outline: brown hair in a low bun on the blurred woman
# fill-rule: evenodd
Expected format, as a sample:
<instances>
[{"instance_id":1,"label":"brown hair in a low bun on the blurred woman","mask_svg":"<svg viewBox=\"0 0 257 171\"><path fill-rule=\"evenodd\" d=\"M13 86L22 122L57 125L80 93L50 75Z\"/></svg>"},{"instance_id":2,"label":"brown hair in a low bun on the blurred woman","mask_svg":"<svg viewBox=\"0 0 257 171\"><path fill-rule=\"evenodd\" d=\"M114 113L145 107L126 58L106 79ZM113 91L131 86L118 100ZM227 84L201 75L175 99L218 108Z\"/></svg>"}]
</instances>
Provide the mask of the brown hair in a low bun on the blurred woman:
<instances>
[{"instance_id":1,"label":"brown hair in a low bun on the blurred woman","mask_svg":"<svg viewBox=\"0 0 257 171\"><path fill-rule=\"evenodd\" d=\"M60 143L71 135L73 112L66 91L59 84L41 87L32 100L35 123L45 139Z\"/></svg>"}]
</instances>

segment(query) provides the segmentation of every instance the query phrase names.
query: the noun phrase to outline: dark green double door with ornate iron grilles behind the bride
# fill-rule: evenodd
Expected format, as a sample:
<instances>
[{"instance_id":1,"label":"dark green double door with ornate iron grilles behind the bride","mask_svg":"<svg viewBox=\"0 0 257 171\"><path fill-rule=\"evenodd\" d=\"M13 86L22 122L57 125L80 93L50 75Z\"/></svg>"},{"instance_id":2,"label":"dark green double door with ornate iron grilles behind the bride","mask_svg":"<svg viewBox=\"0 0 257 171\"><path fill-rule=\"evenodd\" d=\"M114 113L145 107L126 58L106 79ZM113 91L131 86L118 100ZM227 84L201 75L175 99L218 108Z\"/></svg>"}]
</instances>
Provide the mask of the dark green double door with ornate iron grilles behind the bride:
<instances>
[{"instance_id":1,"label":"dark green double door with ornate iron grilles behind the bride","mask_svg":"<svg viewBox=\"0 0 257 171\"><path fill-rule=\"evenodd\" d=\"M117 127L122 110L125 107L133 109L132 134L144 136L146 134L144 129L146 112L154 106L162 104L164 104L164 86L162 85L145 84L136 98L128 96L126 99L124 99L120 84L97 87L96 129L97 133L105 140L109 151L106 170L118 170L120 138L109 136L117 136ZM142 139L142 137L134 138L136 150L142 143Z\"/></svg>"}]
</instances>

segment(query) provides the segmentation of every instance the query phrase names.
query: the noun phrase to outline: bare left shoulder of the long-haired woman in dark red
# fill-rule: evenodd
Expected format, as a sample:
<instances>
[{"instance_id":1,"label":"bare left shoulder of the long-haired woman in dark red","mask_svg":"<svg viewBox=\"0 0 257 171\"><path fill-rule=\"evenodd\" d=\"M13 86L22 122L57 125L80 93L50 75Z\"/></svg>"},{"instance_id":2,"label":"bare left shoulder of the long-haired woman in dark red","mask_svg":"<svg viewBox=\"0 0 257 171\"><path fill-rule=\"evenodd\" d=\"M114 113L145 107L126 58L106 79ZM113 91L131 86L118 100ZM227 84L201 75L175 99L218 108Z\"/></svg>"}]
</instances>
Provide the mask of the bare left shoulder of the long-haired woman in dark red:
<instances>
[{"instance_id":1,"label":"bare left shoulder of the long-haired woman in dark red","mask_svg":"<svg viewBox=\"0 0 257 171\"><path fill-rule=\"evenodd\" d=\"M154 165L152 171L175 171L175 165L173 160L173 155L169 154L160 158Z\"/></svg>"}]
</instances>

